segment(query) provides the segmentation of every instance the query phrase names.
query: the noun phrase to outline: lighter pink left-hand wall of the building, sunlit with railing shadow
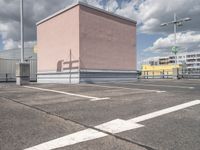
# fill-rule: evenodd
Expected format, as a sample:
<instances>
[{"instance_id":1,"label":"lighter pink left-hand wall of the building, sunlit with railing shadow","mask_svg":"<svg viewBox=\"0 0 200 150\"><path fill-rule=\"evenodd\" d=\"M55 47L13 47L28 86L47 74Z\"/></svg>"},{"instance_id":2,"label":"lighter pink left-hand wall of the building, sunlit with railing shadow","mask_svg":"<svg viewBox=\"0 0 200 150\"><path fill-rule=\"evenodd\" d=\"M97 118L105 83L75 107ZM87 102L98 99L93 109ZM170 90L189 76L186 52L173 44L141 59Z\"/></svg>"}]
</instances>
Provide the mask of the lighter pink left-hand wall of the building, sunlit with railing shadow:
<instances>
[{"instance_id":1,"label":"lighter pink left-hand wall of the building, sunlit with railing shadow","mask_svg":"<svg viewBox=\"0 0 200 150\"><path fill-rule=\"evenodd\" d=\"M37 26L37 49L38 72L68 68L70 49L72 60L79 59L79 6Z\"/></svg>"}]
</instances>

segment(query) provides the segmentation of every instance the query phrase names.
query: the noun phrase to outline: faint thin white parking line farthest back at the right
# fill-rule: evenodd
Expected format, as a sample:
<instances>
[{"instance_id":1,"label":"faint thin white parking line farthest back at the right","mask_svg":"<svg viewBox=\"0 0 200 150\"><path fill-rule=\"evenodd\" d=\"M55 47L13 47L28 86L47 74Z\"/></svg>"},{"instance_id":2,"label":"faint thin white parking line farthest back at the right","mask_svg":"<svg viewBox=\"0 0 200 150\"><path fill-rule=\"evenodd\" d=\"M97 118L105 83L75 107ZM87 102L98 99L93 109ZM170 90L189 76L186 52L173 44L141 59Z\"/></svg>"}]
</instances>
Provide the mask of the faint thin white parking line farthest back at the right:
<instances>
[{"instance_id":1,"label":"faint thin white parking line farthest back at the right","mask_svg":"<svg viewBox=\"0 0 200 150\"><path fill-rule=\"evenodd\" d=\"M122 83L122 82L120 82ZM182 88L182 89L194 89L191 86L177 86L177 85L162 85L162 84L142 84L142 83L122 83L122 84L129 84L129 85L144 85L144 86L158 86L158 87L174 87L174 88Z\"/></svg>"}]
</instances>

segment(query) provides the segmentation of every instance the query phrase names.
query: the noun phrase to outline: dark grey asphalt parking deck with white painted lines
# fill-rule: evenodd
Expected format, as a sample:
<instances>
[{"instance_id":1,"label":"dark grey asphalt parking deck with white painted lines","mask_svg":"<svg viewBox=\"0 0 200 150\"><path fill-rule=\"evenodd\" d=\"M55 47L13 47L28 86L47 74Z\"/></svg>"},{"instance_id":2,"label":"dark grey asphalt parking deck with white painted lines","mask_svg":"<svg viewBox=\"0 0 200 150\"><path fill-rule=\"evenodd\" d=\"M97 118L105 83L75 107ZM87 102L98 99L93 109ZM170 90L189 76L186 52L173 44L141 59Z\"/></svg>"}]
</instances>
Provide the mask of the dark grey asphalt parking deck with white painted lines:
<instances>
[{"instance_id":1,"label":"dark grey asphalt parking deck with white painted lines","mask_svg":"<svg viewBox=\"0 0 200 150\"><path fill-rule=\"evenodd\" d=\"M0 83L0 149L199 150L198 100L200 80Z\"/></svg>"}]
</instances>

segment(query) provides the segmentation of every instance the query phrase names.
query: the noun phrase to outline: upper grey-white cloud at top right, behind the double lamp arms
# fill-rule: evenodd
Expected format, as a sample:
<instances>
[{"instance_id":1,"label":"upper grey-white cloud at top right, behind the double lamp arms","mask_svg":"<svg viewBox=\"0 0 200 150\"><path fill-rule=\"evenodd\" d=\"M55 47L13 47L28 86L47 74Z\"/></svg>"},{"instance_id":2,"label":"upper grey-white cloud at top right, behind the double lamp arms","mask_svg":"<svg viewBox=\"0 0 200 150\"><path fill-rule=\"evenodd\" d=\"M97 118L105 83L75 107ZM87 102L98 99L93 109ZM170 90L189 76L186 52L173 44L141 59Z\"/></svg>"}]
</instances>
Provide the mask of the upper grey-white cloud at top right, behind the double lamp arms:
<instances>
[{"instance_id":1,"label":"upper grey-white cloud at top right, behind the double lamp arms","mask_svg":"<svg viewBox=\"0 0 200 150\"><path fill-rule=\"evenodd\" d=\"M172 32L173 26L161 28L160 24L173 20L173 14L179 18L191 17L192 21L184 24L179 31L199 31L199 0L146 0L139 6L138 19L143 33Z\"/></svg>"}]
</instances>

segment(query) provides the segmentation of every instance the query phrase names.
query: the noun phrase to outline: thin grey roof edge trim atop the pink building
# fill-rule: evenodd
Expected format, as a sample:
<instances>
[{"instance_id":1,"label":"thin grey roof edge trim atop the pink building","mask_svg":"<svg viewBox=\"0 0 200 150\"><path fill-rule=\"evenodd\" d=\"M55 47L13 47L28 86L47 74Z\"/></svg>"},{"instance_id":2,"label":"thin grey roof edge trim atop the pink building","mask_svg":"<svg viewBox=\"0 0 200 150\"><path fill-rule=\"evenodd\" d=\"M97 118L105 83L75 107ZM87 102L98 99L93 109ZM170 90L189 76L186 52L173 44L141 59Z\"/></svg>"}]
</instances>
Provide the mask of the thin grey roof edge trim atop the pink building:
<instances>
[{"instance_id":1,"label":"thin grey roof edge trim atop the pink building","mask_svg":"<svg viewBox=\"0 0 200 150\"><path fill-rule=\"evenodd\" d=\"M133 19L130 19L130 18L127 18L127 17L123 17L123 16L121 16L121 15L114 14L114 13L112 13L112 12L105 11L105 10L103 10L103 9L97 8L97 7L92 6L92 5L89 5L89 4L87 4L87 3L78 2L78 3L72 4L72 5L68 6L68 7L66 7L66 8L64 8L64 9L62 9L62 10L60 10L60 11L58 11L58 12L56 12L56 13L50 15L50 16L48 16L47 18L42 19L41 21L37 22L36 25L40 25L40 24L42 24L42 23L44 23L44 22L46 22L46 21L48 21L48 20L50 20L50 19L52 19L52 18L54 18L54 17L60 15L60 14L62 14L62 13L65 12L65 11L68 11L68 10L70 10L70 9L72 9L72 8L74 8L74 7L76 7L76 6L78 6L78 5L85 6L85 7L91 8L91 9L95 9L96 11L100 11L100 12L105 13L105 14L107 14L107 15L110 15L110 16L113 16L113 17L117 17L117 18L120 18L120 19L129 21L129 22L135 23L135 24L137 23L137 22L136 22L135 20L133 20Z\"/></svg>"}]
</instances>

